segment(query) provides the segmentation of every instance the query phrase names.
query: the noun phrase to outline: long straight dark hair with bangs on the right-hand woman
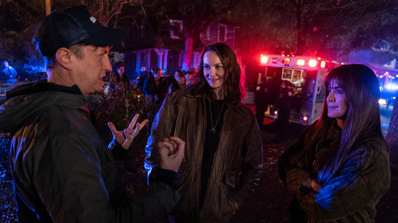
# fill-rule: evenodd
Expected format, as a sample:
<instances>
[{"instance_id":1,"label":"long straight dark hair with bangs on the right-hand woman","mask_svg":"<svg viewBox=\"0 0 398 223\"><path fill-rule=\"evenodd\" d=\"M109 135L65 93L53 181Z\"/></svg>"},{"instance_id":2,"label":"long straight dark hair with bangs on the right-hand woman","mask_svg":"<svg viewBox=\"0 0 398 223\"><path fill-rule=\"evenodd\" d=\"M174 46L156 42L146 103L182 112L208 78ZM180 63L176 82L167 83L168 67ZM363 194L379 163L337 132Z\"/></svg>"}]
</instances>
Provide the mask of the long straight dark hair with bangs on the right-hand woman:
<instances>
[{"instance_id":1,"label":"long straight dark hair with bangs on the right-hand woman","mask_svg":"<svg viewBox=\"0 0 398 223\"><path fill-rule=\"evenodd\" d=\"M372 136L383 137L380 125L379 80L375 73L361 64L342 65L331 70L325 78L325 89L331 82L337 83L343 90L348 105L348 115L341 131L338 150L330 157L320 170L318 181L328 182L346 161L345 157ZM334 118L328 117L327 97L325 93L324 109L317 123L319 133L314 142L319 142L326 135L328 126Z\"/></svg>"}]
</instances>

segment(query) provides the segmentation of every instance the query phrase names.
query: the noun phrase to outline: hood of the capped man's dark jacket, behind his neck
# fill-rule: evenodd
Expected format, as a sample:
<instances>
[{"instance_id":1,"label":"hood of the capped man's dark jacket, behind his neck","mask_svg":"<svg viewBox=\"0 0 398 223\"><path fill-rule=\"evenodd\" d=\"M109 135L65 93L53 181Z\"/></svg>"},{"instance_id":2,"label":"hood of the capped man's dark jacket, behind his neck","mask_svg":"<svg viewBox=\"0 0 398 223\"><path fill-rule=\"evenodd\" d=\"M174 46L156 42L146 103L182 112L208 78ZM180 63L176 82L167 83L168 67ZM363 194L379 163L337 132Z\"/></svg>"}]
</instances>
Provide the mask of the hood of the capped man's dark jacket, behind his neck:
<instances>
[{"instance_id":1,"label":"hood of the capped man's dark jacket, behind his neck","mask_svg":"<svg viewBox=\"0 0 398 223\"><path fill-rule=\"evenodd\" d=\"M38 87L38 85L42 86ZM7 92L8 99L0 105L0 134L11 137L24 120L39 110L45 114L45 108L53 105L68 109L81 109L88 113L88 109L84 105L88 106L101 97L99 95L84 97L79 94L52 91L52 86L49 85L54 84L38 81L9 90L10 94Z\"/></svg>"}]
</instances>

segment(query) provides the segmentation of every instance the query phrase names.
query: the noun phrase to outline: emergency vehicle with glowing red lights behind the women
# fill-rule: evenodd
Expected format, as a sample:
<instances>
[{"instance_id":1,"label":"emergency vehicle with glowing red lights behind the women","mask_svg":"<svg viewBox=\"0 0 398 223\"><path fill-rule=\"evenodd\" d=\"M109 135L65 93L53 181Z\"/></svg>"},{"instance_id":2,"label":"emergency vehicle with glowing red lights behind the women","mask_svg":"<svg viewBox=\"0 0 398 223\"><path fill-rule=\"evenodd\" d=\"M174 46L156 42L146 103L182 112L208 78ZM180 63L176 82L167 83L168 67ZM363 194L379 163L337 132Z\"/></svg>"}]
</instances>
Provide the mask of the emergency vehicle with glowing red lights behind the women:
<instances>
[{"instance_id":1,"label":"emergency vehicle with glowing red lights behind the women","mask_svg":"<svg viewBox=\"0 0 398 223\"><path fill-rule=\"evenodd\" d=\"M255 106L257 85L266 82L270 105L265 111L264 124L278 118L278 102L283 80L290 82L290 122L310 125L320 118L325 96L324 80L331 69L342 63L321 58L292 55L261 55L259 63L244 66L247 85L245 104Z\"/></svg>"}]
</instances>

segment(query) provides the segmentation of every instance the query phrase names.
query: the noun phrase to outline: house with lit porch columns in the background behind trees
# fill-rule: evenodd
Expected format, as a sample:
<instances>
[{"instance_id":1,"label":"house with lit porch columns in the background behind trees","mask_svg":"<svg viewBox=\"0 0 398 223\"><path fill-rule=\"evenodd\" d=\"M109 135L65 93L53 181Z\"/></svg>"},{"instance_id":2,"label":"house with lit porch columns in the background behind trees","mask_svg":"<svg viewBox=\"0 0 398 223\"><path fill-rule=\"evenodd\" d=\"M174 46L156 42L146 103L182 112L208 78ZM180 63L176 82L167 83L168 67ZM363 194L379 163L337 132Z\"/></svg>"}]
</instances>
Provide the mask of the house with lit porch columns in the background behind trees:
<instances>
[{"instance_id":1,"label":"house with lit porch columns in the background behind trees","mask_svg":"<svg viewBox=\"0 0 398 223\"><path fill-rule=\"evenodd\" d=\"M200 35L201 42L194 43L191 68L198 68L203 46L223 42L234 48L237 28L238 26L218 22L208 25ZM158 28L142 21L141 25L130 30L125 46L116 51L122 52L125 73L130 79L136 78L143 66L147 71L159 67L173 74L182 68L183 23L181 20L169 19Z\"/></svg>"}]
</instances>

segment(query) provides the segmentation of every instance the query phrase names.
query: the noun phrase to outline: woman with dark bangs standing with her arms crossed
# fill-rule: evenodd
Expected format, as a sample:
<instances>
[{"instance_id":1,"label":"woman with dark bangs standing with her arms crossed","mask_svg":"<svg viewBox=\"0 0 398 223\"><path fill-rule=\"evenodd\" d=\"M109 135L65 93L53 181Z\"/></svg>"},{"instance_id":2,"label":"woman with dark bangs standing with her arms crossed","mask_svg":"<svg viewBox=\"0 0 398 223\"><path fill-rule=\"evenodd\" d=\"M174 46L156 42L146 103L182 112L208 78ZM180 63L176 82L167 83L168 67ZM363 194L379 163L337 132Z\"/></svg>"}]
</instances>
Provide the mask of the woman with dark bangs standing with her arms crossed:
<instances>
[{"instance_id":1,"label":"woman with dark bangs standing with her arms crossed","mask_svg":"<svg viewBox=\"0 0 398 223\"><path fill-rule=\"evenodd\" d=\"M390 186L379 81L364 65L342 65L327 74L325 88L321 118L278 160L294 194L290 222L372 222Z\"/></svg>"}]
</instances>

